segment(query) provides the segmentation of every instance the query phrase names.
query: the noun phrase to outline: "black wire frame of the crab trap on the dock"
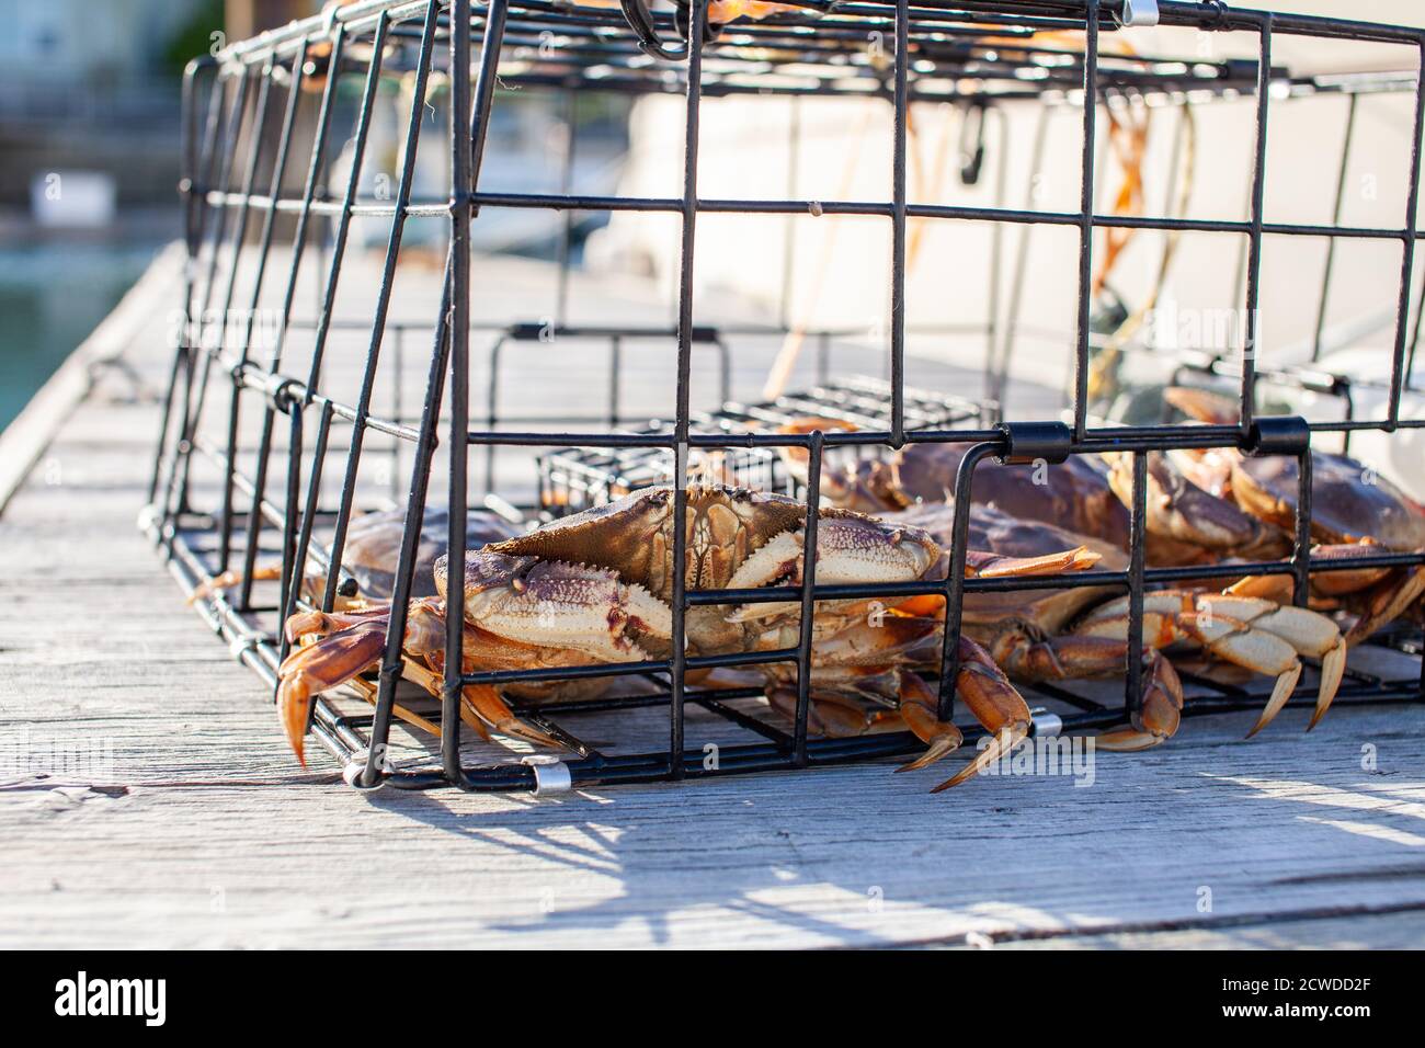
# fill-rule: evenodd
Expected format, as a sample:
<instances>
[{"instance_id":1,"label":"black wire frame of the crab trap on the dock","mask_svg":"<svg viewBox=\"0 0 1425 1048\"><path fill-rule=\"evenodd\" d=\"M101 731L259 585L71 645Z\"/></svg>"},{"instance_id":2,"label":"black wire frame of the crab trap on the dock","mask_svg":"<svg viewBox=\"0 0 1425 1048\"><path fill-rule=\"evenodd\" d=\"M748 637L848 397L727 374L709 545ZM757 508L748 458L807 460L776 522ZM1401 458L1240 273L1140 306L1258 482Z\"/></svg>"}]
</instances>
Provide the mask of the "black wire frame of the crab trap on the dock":
<instances>
[{"instance_id":1,"label":"black wire frame of the crab trap on the dock","mask_svg":"<svg viewBox=\"0 0 1425 1048\"><path fill-rule=\"evenodd\" d=\"M353 512L385 500L405 505L399 559L393 567L393 600L379 673L368 682L373 710L343 711L341 700L319 697L311 730L341 761L356 787L389 784L426 788L453 784L467 790L519 790L559 784L680 780L695 776L787 770L913 753L921 743L906 731L854 739L814 737L808 730L812 610L815 600L943 597L946 615L939 674L939 713L950 719L955 693L948 682L958 670L958 637L966 595L985 590L1035 590L1067 586L1117 586L1129 602L1129 650L1141 650L1144 593L1164 583L1210 582L1241 575L1241 565L1150 566L1144 553L1147 456L1171 449L1230 448L1248 455L1291 456L1298 492L1292 555L1254 563L1254 575L1290 576L1295 602L1305 605L1311 576L1349 567L1409 567L1425 563L1419 552L1381 552L1349 565L1311 556L1311 443L1317 433L1385 432L1418 428L1402 418L1415 287L1419 200L1419 151L1425 117L1425 31L1340 19L1273 14L1223 3L1168 0L797 0L765 17L732 19L742 4L727 0L678 0L653 11L644 0L358 0L331 4L319 17L292 23L234 44L212 58L194 61L184 81L184 157L181 192L185 205L190 265L162 435L150 490L145 528L185 592L197 595L225 572L241 582L197 600L197 609L225 639L232 653L275 686L278 664L288 654L282 623L292 613L331 610L351 583L343 566L345 539ZM1198 48L1183 56L1143 57L1109 46L1136 26L1178 27L1194 40L1213 34L1244 34L1253 54L1213 60ZM1412 67L1394 76L1310 77L1274 63L1274 46L1287 38L1394 46L1411 56ZM868 40L874 47L868 47ZM469 76L466 74L469 71ZM396 171L385 191L363 181L372 128L379 123L378 98L399 84L405 113L396 130ZM443 120L429 106L443 91ZM557 191L490 190L482 170L490 158L494 114L517 91L547 91L573 103L590 96L683 98L678 150L680 190L665 197L634 197L576 191L569 168ZM1395 91L1412 100L1405 208L1387 227L1268 221L1264 210L1268 121L1292 98L1340 93ZM892 148L884 157L888 200L798 200L754 197L710 198L700 192L700 148L705 145L701 115L721 98L798 100L875 98L885 104ZM1248 212L1243 218L1151 217L1104 212L1096 204L1096 174L1103 165L1102 120L1116 100L1171 104L1235 100L1253 111L1248 170ZM913 201L908 192L908 128L912 107L939 103L965 114L960 175L980 178L985 130L1015 107L1070 113L1082 131L1072 163L1060 163L1079 185L1077 207L1046 210L1012 207L1005 173L990 205ZM442 125L443 124L443 125ZM571 125L570 125L571 127ZM570 137L573 130L570 130ZM1036 150L1043 148L1043 135ZM345 145L343 145L345 143ZM1349 144L1345 147L1349 148ZM567 155L571 150L566 150ZM443 165L447 192L422 195L422 158ZM1036 158L1036 167L1039 160ZM426 165L429 167L429 165ZM1009 164L1002 161L1002 168ZM1342 175L1344 178L1344 175ZM484 282L480 257L472 251L472 224L482 215L514 210L546 211L561 218L559 285L554 319L490 319L487 307L500 289ZM577 325L567 321L569 274L573 267L570 230L576 214L657 215L671 221L678 237L675 318L667 327L641 322ZM809 389L772 398L734 399L732 365L750 338L787 334L785 301L778 324L764 327L700 325L694 301L695 234L705 215L849 215L885 222L891 237L888 271L869 272L889 295L884 371L876 379L852 378L832 364L832 348L845 332L798 329L818 348ZM336 297L346 272L363 272L353 261L353 228L383 228L385 248L373 275L356 288L359 319L336 317ZM423 319L399 315L398 262L415 222L439 228L439 295L420 302ZM992 299L999 299L999 237L1005 230L1029 232L1059 228L1076 237L1077 264L1062 279L1073 287L1074 321L1064 342L1072 372L1063 418L1016 418L1003 408L1013 328L1033 307L1022 295L1023 251L1012 277L1012 319L1006 329L988 319L955 314L943 331L972 329L986 335L979 399L918 389L908 384L906 255L911 224L988 224L995 237ZM1094 315L1094 268L1102 261L1096 237L1104 232L1157 231L1223 234L1244 245L1241 284L1245 331L1237 352L1210 368L1227 374L1237 391L1240 416L1227 425L1154 422L1121 425L1096 416L1089 382L1103 332ZM1399 254L1394 338L1389 349L1387 409L1378 418L1308 422L1300 416L1261 415L1257 384L1255 315L1264 284L1263 245L1268 238L1325 238L1389 245ZM868 271L874 267L868 265ZM349 285L352 279L348 278ZM1330 277L1328 277L1330 279ZM302 289L311 285L311 309ZM352 288L342 285L351 295ZM262 309L275 315L261 349L255 327ZM396 314L396 315L393 315ZM256 319L255 319L256 318ZM1415 332L1419 329L1416 311ZM586 339L607 354L607 385L598 406L540 415L502 409L502 371L522 382L540 382L547 359L546 331L563 344ZM232 337L237 332L237 337ZM935 335L935 329L929 331ZM342 341L352 337L348 341ZM489 378L484 411L472 398L472 362L480 348ZM415 381L403 379L405 361L419 352ZM593 348L589 354L600 352ZM694 365L711 354L715 402L694 406ZM633 362L636 355L640 362ZM657 358L671 364L664 408L630 412L621 398L621 376ZM349 394L333 388L342 366L355 376ZM423 375L423 385L419 376ZM657 415L658 419L653 416ZM838 418L848 429L781 432L798 416ZM804 585L754 590L695 590L685 577L687 485L712 476L764 488L792 490L779 472L781 451L805 455L805 488L821 489L824 471L838 456L886 455L915 443L963 443L968 451L953 481L950 569L945 579L918 583L824 585L817 582L818 515L804 525ZM527 458L527 488L534 493L502 498L496 452ZM1073 576L965 579L972 481L979 463L1062 463L1070 456L1114 451L1131 455L1133 498L1127 566L1116 572ZM473 452L473 453L472 453ZM480 481L472 482L472 473ZM382 466L372 476L373 462ZM714 465L710 466L708 463ZM440 498L440 469L445 498ZM1027 468L1027 465L1026 465ZM704 472L698 472L704 471ZM447 616L439 702L400 697L402 643L406 607L422 522L428 505L445 502L450 528L445 536L452 563L467 552L462 526L467 510L486 506L526 523L597 505L647 483L675 485L673 505L673 654L640 663L462 672L462 619ZM536 488L537 485L537 488ZM436 490L432 490L435 488ZM815 499L811 499L815 502ZM516 505L517 503L517 505ZM323 545L319 536L329 536ZM259 600L255 582L264 563L281 560L275 600ZM304 577L325 579L315 599ZM262 590L266 592L266 590ZM688 654L685 616L698 606L798 602L798 642L785 649L735 654ZM1396 630L1399 652L1419 659L1416 630ZM797 667L795 716L789 726L761 716L761 689L707 689L697 672L758 663ZM1039 713L1036 733L1074 731L1123 724L1139 703L1143 664L1129 659L1121 702L1087 699L1052 684L1026 686L1030 699L1053 700L1063 713ZM693 676L690 676L693 674ZM530 682L617 677L637 683L628 693L584 702L544 702L519 713L564 741L573 756L563 761L472 760L462 731L460 694L469 684L509 686ZM1310 677L1308 677L1310 680ZM1258 709L1260 686L1221 684L1194 679L1184 714ZM1302 689L1308 690L1308 689ZM1419 669L1347 672L1338 704L1425 697ZM1295 700L1294 700L1295 702ZM400 711L443 726L437 751L412 761L392 761L388 747ZM581 740L574 723L598 710L641 710L664 717L664 743L616 751L606 743ZM747 734L720 746L708 761L688 736L691 711L703 711ZM701 716L701 714L700 714ZM968 726L966 740L985 734Z\"/></svg>"}]
</instances>

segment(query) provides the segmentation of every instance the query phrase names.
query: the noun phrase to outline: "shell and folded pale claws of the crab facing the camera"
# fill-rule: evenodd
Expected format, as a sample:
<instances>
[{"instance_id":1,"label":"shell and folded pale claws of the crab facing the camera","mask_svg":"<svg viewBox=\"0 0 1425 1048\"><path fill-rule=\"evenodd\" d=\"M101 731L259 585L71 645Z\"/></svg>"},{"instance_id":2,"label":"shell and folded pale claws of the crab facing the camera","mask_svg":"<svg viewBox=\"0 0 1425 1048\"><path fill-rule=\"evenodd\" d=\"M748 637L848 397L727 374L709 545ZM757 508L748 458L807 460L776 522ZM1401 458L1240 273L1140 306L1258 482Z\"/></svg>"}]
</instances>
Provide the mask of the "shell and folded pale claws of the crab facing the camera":
<instances>
[{"instance_id":1,"label":"shell and folded pale claws of the crab facing the camera","mask_svg":"<svg viewBox=\"0 0 1425 1048\"><path fill-rule=\"evenodd\" d=\"M721 485L687 489L684 579L688 590L798 585L807 508L779 495ZM466 619L537 644L566 644L606 660L663 654L671 639L674 489L648 488L466 556ZM940 550L925 532L851 510L818 512L817 580L913 582ZM446 593L446 562L435 566ZM818 602L822 612L841 610ZM687 613L701 653L748 650L799 605L755 613L717 606ZM633 647L630 647L630 644ZM637 657L637 656L634 656Z\"/></svg>"}]
</instances>

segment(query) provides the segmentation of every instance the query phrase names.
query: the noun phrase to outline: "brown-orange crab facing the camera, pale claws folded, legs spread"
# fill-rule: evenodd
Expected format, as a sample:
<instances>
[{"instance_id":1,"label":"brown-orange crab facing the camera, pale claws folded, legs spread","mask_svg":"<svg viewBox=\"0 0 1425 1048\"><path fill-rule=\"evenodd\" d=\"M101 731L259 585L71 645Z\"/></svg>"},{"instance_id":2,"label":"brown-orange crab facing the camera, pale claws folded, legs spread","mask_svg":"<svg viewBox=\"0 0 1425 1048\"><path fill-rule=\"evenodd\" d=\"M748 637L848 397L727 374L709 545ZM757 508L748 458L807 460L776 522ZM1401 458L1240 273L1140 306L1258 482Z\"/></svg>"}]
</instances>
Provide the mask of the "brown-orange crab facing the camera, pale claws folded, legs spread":
<instances>
[{"instance_id":1,"label":"brown-orange crab facing the camera, pale claws folded, legs spread","mask_svg":"<svg viewBox=\"0 0 1425 1048\"><path fill-rule=\"evenodd\" d=\"M802 582L807 508L788 498L725 486L687 490L690 590L745 589ZM674 490L648 488L527 535L466 555L460 577L465 605L463 669L497 670L665 659L671 652L674 587ZM968 570L983 576L1032 575L1087 566L1083 549L1047 556L1005 558L972 553ZM939 546L918 528L886 523L844 509L818 515L817 582L916 582L932 577ZM410 605L405 653L432 692L439 693L449 565L435 565L437 595ZM814 726L844 734L871 730L892 713L919 736L928 751L908 767L923 767L950 753L960 731L936 717L929 689L908 670L905 653L938 623L896 609L868 615L866 600L817 603L812 630ZM688 607L690 654L777 650L795 644L799 603L774 602ZM382 653L389 615L304 613L286 623L294 640L315 643L279 669L278 709L298 757L312 697L361 673ZM973 640L960 646L956 687L986 729L1017 741L1029 730L1029 707L989 654ZM785 677L770 670L774 700ZM876 703L879 706L876 707ZM876 709L872 709L876 707ZM871 711L862 711L871 710ZM998 756L992 747L945 786L969 779ZM943 788L943 787L942 787Z\"/></svg>"}]
</instances>

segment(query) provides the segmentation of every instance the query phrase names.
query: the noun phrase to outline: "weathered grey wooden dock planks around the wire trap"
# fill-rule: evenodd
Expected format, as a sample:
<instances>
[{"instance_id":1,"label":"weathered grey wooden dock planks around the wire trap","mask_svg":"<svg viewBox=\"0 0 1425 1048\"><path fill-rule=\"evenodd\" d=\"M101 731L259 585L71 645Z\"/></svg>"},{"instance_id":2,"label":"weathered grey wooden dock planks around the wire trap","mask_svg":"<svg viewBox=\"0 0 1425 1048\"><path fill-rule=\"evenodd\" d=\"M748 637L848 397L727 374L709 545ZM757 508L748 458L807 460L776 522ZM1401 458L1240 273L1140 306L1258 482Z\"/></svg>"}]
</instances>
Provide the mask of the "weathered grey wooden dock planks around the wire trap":
<instances>
[{"instance_id":1,"label":"weathered grey wooden dock planks around the wire trap","mask_svg":"<svg viewBox=\"0 0 1425 1048\"><path fill-rule=\"evenodd\" d=\"M1419 704L938 796L891 764L556 798L304 771L135 526L180 265L0 438L0 945L1425 944Z\"/></svg>"}]
</instances>

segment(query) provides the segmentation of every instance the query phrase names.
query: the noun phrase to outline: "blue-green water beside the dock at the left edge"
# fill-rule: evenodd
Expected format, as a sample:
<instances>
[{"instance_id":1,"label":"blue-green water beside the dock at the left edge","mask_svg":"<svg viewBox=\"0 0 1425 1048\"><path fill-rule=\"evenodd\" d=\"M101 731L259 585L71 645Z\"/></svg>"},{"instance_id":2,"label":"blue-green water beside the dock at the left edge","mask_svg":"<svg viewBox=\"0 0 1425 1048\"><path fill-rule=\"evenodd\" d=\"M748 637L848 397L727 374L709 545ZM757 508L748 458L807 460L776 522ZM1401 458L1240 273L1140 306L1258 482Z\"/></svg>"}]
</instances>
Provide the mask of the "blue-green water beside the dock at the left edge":
<instances>
[{"instance_id":1,"label":"blue-green water beside the dock at the left edge","mask_svg":"<svg viewBox=\"0 0 1425 1048\"><path fill-rule=\"evenodd\" d=\"M0 429L108 315L160 247L0 247Z\"/></svg>"}]
</instances>

